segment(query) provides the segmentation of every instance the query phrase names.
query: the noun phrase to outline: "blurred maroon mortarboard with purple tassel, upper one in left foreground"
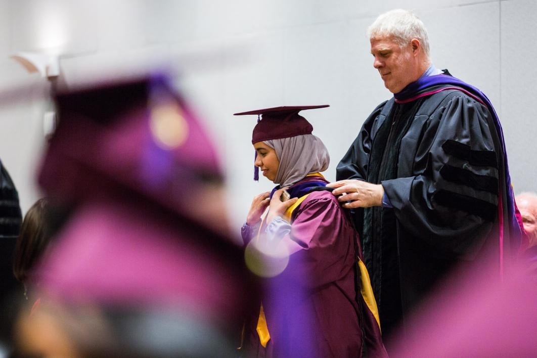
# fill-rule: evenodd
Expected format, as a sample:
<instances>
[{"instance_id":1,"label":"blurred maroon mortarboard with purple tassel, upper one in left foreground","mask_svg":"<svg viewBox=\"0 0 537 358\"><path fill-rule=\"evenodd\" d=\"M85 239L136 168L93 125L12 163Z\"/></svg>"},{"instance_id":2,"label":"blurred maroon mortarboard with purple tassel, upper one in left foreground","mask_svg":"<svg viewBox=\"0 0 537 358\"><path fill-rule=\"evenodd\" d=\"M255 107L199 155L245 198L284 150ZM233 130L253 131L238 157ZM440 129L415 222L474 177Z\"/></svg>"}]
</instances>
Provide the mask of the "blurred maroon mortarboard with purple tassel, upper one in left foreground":
<instances>
[{"instance_id":1,"label":"blurred maroon mortarboard with purple tassel, upper one in left foreground","mask_svg":"<svg viewBox=\"0 0 537 358\"><path fill-rule=\"evenodd\" d=\"M183 214L185 192L222 180L197 115L164 75L67 90L55 96L59 123L39 184L76 204L111 185Z\"/></svg>"}]
</instances>

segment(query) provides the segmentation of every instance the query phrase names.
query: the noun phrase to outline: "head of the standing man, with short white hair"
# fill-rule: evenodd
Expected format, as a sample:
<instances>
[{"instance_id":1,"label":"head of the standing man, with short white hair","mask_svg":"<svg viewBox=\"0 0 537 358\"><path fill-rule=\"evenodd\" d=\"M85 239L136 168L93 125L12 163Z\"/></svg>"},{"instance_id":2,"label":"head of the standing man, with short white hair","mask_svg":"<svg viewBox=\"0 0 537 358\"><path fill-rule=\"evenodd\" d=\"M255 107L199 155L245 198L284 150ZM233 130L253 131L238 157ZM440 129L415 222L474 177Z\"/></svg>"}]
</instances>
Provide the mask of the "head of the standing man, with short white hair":
<instances>
[{"instance_id":1,"label":"head of the standing man, with short white hair","mask_svg":"<svg viewBox=\"0 0 537 358\"><path fill-rule=\"evenodd\" d=\"M381 14L367 34L373 67L391 93L416 81L431 64L427 30L411 11L396 9Z\"/></svg>"}]
</instances>

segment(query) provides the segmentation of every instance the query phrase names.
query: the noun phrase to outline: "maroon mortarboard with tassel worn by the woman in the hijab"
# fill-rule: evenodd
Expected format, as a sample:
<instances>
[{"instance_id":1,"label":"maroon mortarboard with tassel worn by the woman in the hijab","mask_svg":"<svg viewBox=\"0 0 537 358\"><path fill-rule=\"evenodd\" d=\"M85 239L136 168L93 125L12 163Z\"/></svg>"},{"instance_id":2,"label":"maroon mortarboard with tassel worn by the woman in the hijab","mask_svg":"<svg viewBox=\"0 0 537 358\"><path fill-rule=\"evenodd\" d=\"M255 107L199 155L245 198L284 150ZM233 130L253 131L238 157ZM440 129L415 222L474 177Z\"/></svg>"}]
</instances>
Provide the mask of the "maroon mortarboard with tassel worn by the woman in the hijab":
<instances>
[{"instance_id":1,"label":"maroon mortarboard with tassel worn by the woman in the hijab","mask_svg":"<svg viewBox=\"0 0 537 358\"><path fill-rule=\"evenodd\" d=\"M313 126L303 116L299 115L304 109L330 107L319 106L280 106L254 111L234 113L234 115L257 114L257 125L253 128L252 144L273 139L289 138L297 135L311 134ZM259 118L261 116L261 118ZM257 152L256 156L257 157ZM255 159L254 159L255 160ZM253 179L259 179L258 168L255 167Z\"/></svg>"}]
</instances>

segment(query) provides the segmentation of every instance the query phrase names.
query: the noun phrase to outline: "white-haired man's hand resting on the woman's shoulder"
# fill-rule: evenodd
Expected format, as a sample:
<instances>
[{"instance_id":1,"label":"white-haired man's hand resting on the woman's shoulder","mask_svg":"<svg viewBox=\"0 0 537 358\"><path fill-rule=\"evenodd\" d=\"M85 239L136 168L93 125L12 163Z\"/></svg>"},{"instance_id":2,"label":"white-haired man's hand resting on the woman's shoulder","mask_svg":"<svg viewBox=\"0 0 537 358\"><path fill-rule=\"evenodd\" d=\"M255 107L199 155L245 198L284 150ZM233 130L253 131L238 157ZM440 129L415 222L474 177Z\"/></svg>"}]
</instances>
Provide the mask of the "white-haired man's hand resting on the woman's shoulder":
<instances>
[{"instance_id":1,"label":"white-haired man's hand resting on the woman's shoulder","mask_svg":"<svg viewBox=\"0 0 537 358\"><path fill-rule=\"evenodd\" d=\"M348 179L331 182L326 186L335 188L332 194L339 195L337 200L347 209L368 208L382 206L384 188L380 184L371 184L367 181ZM349 202L347 202L349 201Z\"/></svg>"}]
</instances>

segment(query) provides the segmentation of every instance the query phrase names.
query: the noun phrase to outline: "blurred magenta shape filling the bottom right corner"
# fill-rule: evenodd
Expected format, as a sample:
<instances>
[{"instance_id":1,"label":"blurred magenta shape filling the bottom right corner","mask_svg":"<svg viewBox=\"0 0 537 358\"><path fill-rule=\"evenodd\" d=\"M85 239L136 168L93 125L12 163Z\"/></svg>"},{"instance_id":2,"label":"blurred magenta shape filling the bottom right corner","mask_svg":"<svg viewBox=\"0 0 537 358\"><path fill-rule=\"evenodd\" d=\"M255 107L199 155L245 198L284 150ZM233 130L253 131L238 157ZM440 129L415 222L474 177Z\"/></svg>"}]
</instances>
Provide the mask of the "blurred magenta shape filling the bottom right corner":
<instances>
[{"instance_id":1,"label":"blurred magenta shape filling the bottom right corner","mask_svg":"<svg viewBox=\"0 0 537 358\"><path fill-rule=\"evenodd\" d=\"M536 356L537 276L530 268L520 260L504 282L495 278L494 259L456 272L414 312L391 356Z\"/></svg>"}]
</instances>

